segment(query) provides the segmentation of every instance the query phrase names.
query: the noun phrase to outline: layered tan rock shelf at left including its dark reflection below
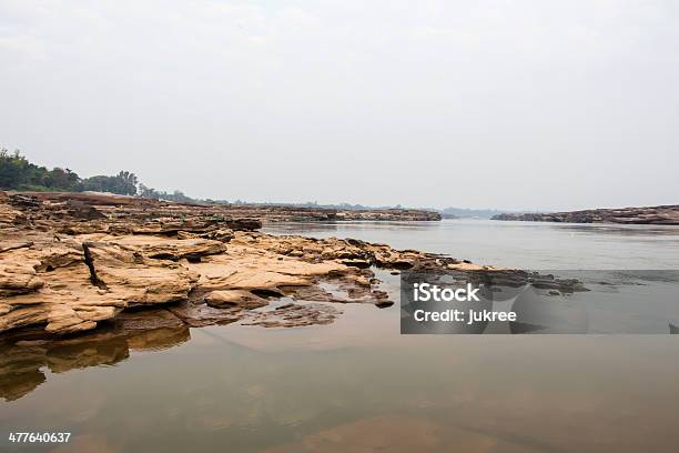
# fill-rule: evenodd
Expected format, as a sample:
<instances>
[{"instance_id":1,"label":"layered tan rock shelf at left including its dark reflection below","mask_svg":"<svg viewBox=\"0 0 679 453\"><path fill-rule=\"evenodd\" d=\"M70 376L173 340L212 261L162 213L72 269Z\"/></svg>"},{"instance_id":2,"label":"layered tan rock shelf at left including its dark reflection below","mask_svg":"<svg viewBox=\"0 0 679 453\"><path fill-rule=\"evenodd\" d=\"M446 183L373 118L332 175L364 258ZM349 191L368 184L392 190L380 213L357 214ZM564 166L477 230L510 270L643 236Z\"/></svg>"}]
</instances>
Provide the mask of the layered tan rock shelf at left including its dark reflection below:
<instances>
[{"instance_id":1,"label":"layered tan rock shelf at left including its dark reflection below","mask_svg":"<svg viewBox=\"0 0 679 453\"><path fill-rule=\"evenodd\" d=\"M115 200L0 192L1 397L31 392L43 366L113 364L185 342L191 328L322 325L346 303L391 306L376 269L530 278L354 239L265 234L268 219L219 208Z\"/></svg>"}]
</instances>

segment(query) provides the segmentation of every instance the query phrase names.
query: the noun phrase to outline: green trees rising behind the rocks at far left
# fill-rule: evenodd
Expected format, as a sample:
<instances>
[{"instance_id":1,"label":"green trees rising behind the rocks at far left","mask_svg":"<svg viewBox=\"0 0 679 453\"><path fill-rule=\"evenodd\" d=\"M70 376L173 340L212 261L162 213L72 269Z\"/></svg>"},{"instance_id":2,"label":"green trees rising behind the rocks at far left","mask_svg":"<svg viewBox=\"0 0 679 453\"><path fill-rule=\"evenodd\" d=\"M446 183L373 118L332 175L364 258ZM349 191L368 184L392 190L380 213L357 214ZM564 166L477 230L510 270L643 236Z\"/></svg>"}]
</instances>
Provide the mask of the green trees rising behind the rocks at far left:
<instances>
[{"instance_id":1,"label":"green trees rising behind the rocks at far left","mask_svg":"<svg viewBox=\"0 0 679 453\"><path fill-rule=\"evenodd\" d=\"M139 182L130 171L115 175L80 178L70 169L37 165L19 151L0 149L0 189L34 192L111 192L121 195L140 195L156 200L196 201L179 190L173 193L156 191Z\"/></svg>"}]
</instances>

